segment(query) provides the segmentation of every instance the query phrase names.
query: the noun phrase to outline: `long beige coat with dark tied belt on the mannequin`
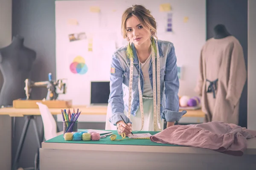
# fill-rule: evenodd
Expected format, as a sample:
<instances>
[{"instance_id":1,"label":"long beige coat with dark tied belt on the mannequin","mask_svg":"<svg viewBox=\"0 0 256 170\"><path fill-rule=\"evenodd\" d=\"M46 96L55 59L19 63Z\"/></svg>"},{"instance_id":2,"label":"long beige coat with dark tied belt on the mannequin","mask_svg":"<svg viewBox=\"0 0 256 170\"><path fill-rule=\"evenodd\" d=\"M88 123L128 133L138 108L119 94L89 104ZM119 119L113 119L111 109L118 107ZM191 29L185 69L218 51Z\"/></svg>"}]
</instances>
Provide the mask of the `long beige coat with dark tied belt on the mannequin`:
<instances>
[{"instance_id":1,"label":"long beige coat with dark tied belt on the mannequin","mask_svg":"<svg viewBox=\"0 0 256 170\"><path fill-rule=\"evenodd\" d=\"M213 93L207 93L207 90L209 81L216 79L214 98ZM233 36L207 40L201 50L200 75L195 88L198 95L202 96L205 122L220 121L238 125L239 99L246 79L243 49L239 41Z\"/></svg>"}]
</instances>

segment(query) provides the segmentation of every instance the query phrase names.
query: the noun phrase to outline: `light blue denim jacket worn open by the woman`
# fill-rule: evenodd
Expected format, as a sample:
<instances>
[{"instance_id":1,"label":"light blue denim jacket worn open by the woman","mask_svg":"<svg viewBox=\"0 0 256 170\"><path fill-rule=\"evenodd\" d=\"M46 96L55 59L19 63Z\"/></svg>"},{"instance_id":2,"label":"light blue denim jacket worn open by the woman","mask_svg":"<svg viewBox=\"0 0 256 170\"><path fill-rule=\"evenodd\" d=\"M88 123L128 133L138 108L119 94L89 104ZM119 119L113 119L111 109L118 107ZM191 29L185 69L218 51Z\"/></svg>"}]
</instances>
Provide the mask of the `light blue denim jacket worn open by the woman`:
<instances>
[{"instance_id":1,"label":"light blue denim jacket worn open by the woman","mask_svg":"<svg viewBox=\"0 0 256 170\"><path fill-rule=\"evenodd\" d=\"M160 55L160 113L161 118L167 122L175 122L186 113L179 112L179 79L177 76L177 65L175 48L172 42L157 40ZM131 100L131 116L135 116L137 109L140 106L139 102L139 70L140 70L140 85L143 94L143 73L139 68L139 60L134 47L131 44L134 54L134 73L132 85L132 100ZM114 52L111 61L111 76L110 76L110 95L108 104L111 105L111 116L109 121L116 125L116 122L121 121L120 115L125 119L126 123L132 123L124 114L124 109L128 111L128 87L130 77L130 59L126 55L127 46L119 48ZM156 68L157 69L157 68ZM153 71L152 59L149 65L149 78L152 85Z\"/></svg>"}]
</instances>

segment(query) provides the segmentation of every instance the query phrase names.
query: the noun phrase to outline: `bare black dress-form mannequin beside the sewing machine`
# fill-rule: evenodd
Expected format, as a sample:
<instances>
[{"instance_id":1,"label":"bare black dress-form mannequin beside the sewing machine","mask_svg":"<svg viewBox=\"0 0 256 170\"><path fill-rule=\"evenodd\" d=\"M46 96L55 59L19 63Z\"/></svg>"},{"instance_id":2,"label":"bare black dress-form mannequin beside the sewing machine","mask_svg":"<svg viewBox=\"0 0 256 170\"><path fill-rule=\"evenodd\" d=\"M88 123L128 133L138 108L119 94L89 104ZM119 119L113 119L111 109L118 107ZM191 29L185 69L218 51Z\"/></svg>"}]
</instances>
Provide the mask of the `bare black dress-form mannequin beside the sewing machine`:
<instances>
[{"instance_id":1,"label":"bare black dress-form mannequin beside the sewing machine","mask_svg":"<svg viewBox=\"0 0 256 170\"><path fill-rule=\"evenodd\" d=\"M23 42L24 38L17 35L10 45L0 49L0 71L3 74L0 106L12 105L13 100L26 97L25 79L30 77L36 53Z\"/></svg>"}]
</instances>

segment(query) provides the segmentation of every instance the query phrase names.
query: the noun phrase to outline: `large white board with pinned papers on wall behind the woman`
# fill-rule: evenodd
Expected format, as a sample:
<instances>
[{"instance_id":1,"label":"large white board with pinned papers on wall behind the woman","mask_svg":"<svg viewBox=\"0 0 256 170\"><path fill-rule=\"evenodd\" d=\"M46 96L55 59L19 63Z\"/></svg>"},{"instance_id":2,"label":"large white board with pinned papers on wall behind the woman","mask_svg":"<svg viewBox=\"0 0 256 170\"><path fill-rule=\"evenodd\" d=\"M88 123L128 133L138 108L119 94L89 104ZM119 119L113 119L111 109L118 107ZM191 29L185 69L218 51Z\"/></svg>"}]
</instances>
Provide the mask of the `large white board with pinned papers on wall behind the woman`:
<instances>
[{"instance_id":1,"label":"large white board with pinned papers on wall behind the woman","mask_svg":"<svg viewBox=\"0 0 256 170\"><path fill-rule=\"evenodd\" d=\"M166 3L171 10L160 11ZM60 0L55 1L56 78L67 79L67 93L59 99L90 105L90 82L110 80L113 52L127 45L121 35L122 13L134 4L151 11L158 39L174 43L177 65L182 68L179 94L195 95L200 51L206 40L205 0ZM170 14L172 31L168 32Z\"/></svg>"}]
</instances>

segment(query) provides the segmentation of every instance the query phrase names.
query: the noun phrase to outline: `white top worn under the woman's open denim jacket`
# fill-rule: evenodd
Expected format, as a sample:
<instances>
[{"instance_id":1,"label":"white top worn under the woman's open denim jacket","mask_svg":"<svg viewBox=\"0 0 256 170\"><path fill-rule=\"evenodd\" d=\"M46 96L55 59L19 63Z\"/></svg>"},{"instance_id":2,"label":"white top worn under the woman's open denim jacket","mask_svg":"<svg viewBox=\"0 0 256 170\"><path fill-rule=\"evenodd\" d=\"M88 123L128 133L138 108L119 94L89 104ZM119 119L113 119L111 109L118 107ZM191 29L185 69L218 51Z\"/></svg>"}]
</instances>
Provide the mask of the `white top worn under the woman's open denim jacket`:
<instances>
[{"instance_id":1,"label":"white top worn under the woman's open denim jacket","mask_svg":"<svg viewBox=\"0 0 256 170\"><path fill-rule=\"evenodd\" d=\"M143 79L144 79L143 96L153 96L153 90L151 87L149 74L148 74L150 59L151 59L151 54L144 63L140 62L140 67L142 69Z\"/></svg>"}]
</instances>

